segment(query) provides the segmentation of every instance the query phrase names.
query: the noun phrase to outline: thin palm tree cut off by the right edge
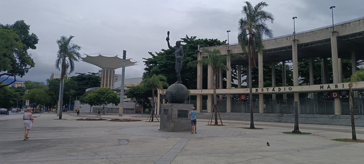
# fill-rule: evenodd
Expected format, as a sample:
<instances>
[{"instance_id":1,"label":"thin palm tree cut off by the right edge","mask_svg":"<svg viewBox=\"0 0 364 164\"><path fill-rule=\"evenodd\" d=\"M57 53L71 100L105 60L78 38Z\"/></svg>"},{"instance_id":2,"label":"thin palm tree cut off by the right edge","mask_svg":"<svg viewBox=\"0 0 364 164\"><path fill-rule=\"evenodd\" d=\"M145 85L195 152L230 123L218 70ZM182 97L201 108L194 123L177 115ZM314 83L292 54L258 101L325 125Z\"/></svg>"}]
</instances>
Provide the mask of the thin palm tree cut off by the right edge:
<instances>
[{"instance_id":1,"label":"thin palm tree cut off by the right edge","mask_svg":"<svg viewBox=\"0 0 364 164\"><path fill-rule=\"evenodd\" d=\"M355 83L357 81L364 81L364 69L360 69L360 70L356 71L356 73L350 77L349 102L350 102L351 135L352 135L353 141L356 141L356 132L355 132L355 122L354 122L354 109L353 109L354 98L353 98L352 86L353 86L353 83Z\"/></svg>"}]
</instances>

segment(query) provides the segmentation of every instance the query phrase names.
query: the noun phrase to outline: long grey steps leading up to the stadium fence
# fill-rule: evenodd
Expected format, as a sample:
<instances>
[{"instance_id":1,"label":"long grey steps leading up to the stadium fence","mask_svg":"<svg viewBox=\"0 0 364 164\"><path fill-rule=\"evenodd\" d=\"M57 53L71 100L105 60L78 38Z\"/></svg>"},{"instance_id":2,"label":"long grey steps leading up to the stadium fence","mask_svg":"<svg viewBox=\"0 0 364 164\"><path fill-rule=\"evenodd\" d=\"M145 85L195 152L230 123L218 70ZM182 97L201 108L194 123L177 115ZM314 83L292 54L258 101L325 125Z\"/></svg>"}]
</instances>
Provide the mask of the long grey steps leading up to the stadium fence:
<instances>
[{"instance_id":1,"label":"long grey steps leading up to the stadium fence","mask_svg":"<svg viewBox=\"0 0 364 164\"><path fill-rule=\"evenodd\" d=\"M222 120L250 121L250 113L220 113ZM211 113L198 113L197 119L209 119ZM364 115L354 115L355 126L364 127ZM294 114L254 113L254 121L294 123ZM300 124L351 126L350 115L299 114Z\"/></svg>"}]
</instances>

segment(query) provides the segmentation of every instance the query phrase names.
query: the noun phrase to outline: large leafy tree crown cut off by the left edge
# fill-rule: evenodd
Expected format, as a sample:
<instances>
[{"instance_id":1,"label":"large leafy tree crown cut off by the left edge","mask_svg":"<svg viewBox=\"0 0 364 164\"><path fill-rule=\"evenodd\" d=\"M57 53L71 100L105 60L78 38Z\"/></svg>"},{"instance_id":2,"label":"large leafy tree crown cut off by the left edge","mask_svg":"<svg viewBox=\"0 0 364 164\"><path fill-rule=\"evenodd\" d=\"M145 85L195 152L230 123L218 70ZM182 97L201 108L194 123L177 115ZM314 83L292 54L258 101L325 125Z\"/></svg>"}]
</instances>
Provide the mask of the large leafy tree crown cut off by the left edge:
<instances>
[{"instance_id":1,"label":"large leafy tree crown cut off by the left edge","mask_svg":"<svg viewBox=\"0 0 364 164\"><path fill-rule=\"evenodd\" d=\"M14 24L0 24L0 78L14 78L10 83L2 83L0 88L9 86L16 81L16 76L23 77L29 69L35 66L28 49L36 49L38 38L35 34L29 35L30 26L24 20Z\"/></svg>"}]
</instances>

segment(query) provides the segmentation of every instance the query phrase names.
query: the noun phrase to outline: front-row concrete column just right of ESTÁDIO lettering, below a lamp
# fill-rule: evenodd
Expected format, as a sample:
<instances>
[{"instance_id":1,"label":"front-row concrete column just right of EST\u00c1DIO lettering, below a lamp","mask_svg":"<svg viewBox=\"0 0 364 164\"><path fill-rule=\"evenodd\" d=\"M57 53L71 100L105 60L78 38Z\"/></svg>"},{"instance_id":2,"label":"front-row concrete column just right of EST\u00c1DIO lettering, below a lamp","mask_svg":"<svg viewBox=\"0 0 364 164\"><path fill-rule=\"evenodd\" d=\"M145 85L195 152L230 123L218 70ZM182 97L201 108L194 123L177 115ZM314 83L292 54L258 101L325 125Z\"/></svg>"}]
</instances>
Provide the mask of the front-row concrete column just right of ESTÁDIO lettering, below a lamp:
<instances>
[{"instance_id":1,"label":"front-row concrete column just right of EST\u00c1DIO lettering, below a lamp","mask_svg":"<svg viewBox=\"0 0 364 164\"><path fill-rule=\"evenodd\" d=\"M292 40L292 67L293 67L293 86L298 86L298 57L297 57L297 42L298 40ZM300 95L294 93L294 101L298 101L298 108L300 108ZM298 109L299 110L299 109Z\"/></svg>"}]
</instances>

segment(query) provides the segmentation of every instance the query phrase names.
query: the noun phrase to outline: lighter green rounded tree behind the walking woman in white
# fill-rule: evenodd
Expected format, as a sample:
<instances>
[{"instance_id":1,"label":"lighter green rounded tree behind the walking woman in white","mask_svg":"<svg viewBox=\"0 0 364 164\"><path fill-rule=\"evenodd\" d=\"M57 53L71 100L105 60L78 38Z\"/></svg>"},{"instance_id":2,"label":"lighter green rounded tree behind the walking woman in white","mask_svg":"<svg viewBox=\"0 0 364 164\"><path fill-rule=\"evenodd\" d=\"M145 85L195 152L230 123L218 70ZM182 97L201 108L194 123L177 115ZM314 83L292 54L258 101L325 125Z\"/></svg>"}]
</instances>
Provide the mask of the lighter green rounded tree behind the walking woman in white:
<instances>
[{"instance_id":1,"label":"lighter green rounded tree behind the walking woman in white","mask_svg":"<svg viewBox=\"0 0 364 164\"><path fill-rule=\"evenodd\" d=\"M23 96L23 100L25 101L26 99L35 104L49 104L51 102L51 97L47 94L47 87L29 90Z\"/></svg>"}]
</instances>

